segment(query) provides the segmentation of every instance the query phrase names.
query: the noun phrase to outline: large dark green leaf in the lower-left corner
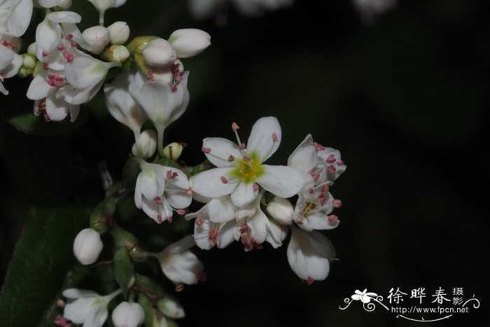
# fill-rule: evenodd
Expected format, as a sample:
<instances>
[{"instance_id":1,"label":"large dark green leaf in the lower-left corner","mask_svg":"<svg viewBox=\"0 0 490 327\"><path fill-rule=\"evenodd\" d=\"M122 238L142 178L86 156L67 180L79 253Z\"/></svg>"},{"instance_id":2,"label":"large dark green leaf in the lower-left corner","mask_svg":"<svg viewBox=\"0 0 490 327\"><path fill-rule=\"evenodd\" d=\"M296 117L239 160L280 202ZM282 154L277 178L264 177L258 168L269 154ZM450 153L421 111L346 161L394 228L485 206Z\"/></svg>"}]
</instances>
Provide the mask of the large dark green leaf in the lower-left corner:
<instances>
[{"instance_id":1,"label":"large dark green leaf in the lower-left corner","mask_svg":"<svg viewBox=\"0 0 490 327\"><path fill-rule=\"evenodd\" d=\"M22 232L0 292L0 326L34 326L59 296L76 262L73 239L88 220L81 207L34 208Z\"/></svg>"}]
</instances>

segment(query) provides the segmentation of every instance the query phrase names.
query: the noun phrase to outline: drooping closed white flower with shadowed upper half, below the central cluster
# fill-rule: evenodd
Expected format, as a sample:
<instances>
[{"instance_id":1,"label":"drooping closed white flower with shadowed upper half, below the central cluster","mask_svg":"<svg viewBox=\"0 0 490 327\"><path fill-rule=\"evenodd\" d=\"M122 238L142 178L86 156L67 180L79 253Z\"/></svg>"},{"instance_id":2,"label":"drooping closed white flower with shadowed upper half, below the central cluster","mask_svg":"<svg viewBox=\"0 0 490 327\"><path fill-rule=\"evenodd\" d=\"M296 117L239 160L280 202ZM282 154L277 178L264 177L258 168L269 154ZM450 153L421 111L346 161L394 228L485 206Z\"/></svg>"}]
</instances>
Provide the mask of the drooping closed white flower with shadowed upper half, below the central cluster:
<instances>
[{"instance_id":1,"label":"drooping closed white flower with shadowed upper half, below the central cluster","mask_svg":"<svg viewBox=\"0 0 490 327\"><path fill-rule=\"evenodd\" d=\"M291 232L287 254L293 272L308 284L327 278L335 258L332 243L315 230L305 232L291 225Z\"/></svg>"}]
</instances>

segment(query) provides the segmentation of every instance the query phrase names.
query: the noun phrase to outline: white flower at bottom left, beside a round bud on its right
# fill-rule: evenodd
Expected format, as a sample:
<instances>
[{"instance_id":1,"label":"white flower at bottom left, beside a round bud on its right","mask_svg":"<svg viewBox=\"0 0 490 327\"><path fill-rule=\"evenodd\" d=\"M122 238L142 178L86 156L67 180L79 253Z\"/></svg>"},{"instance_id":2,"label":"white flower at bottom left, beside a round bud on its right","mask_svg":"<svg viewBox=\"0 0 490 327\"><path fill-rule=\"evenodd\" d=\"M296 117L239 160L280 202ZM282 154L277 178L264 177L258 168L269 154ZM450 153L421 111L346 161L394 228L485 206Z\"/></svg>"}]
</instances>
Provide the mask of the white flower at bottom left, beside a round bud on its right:
<instances>
[{"instance_id":1,"label":"white flower at bottom left, beside a round bud on its right","mask_svg":"<svg viewBox=\"0 0 490 327\"><path fill-rule=\"evenodd\" d=\"M94 291L69 288L63 291L63 296L69 302L64 307L64 318L73 323L83 323L84 327L101 327L109 316L107 305L121 290L109 295L99 295Z\"/></svg>"}]
</instances>

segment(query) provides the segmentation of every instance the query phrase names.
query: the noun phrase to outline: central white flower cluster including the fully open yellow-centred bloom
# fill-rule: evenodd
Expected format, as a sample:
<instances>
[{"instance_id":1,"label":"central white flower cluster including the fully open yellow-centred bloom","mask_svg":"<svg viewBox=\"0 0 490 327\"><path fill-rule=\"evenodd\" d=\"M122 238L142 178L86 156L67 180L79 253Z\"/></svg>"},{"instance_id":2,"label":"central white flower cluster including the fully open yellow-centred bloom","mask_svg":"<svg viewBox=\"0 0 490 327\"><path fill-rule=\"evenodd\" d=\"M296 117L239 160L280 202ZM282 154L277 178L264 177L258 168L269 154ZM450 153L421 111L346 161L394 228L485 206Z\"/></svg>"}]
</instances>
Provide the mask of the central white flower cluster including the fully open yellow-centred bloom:
<instances>
[{"instance_id":1,"label":"central white flower cluster including the fully open yellow-centred bloom","mask_svg":"<svg viewBox=\"0 0 490 327\"><path fill-rule=\"evenodd\" d=\"M216 166L193 176L191 188L204 207L186 218L195 218L194 237L202 249L223 248L233 240L245 251L268 242L282 245L291 230L288 260L305 281L328 276L335 250L316 230L337 227L330 215L341 201L329 189L346 165L339 151L317 144L308 135L288 158L288 165L264 165L281 143L281 127L274 117L260 118L246 144L236 123L237 144L222 138L206 138L202 151ZM288 200L295 197L295 206Z\"/></svg>"}]
</instances>

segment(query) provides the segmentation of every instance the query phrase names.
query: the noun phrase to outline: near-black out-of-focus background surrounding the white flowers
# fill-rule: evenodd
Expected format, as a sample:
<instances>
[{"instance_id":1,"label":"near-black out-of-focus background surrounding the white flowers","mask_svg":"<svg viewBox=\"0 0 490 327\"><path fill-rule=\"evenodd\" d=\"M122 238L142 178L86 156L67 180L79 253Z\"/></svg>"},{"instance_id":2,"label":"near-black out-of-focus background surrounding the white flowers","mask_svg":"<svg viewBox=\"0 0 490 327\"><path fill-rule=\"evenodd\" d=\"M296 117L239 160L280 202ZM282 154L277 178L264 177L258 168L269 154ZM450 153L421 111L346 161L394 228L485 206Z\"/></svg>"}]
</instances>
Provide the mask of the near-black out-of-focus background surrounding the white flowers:
<instances>
[{"instance_id":1,"label":"near-black out-of-focus background surrounding the white flowers","mask_svg":"<svg viewBox=\"0 0 490 327\"><path fill-rule=\"evenodd\" d=\"M255 120L276 116L283 141L270 162L284 164L312 134L348 167L330 188L343 206L339 227L323 232L339 258L328 279L302 282L286 245L196 250L208 281L178 294L187 314L179 326L419 326L360 302L339 309L355 290L386 298L419 287L427 302L440 287L481 302L431 326L488 326L488 1L398 1L370 22L351 1L297 0L257 17L225 6L207 20L190 17L185 1L156 2L128 0L106 22L127 20L132 36L211 34L212 46L184 61L190 106L168 130L169 141L188 144L188 165L204 160L204 137L233 139L235 121L246 139ZM97 23L91 6L73 3L87 12L80 29ZM120 177L132 135L102 103L86 106L90 125L62 136L23 134L2 120L0 282L31 206L96 204L101 160Z\"/></svg>"}]
</instances>

